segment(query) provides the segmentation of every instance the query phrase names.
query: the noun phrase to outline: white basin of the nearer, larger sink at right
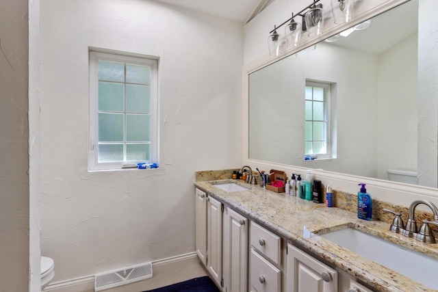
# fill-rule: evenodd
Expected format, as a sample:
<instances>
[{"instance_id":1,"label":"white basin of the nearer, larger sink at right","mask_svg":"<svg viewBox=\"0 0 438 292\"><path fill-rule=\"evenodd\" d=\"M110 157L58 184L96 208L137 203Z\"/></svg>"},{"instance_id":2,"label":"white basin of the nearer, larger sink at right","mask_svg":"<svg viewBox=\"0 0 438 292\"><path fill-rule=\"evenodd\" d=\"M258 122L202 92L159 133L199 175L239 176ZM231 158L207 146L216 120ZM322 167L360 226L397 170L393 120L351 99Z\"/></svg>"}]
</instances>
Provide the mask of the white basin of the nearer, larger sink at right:
<instances>
[{"instance_id":1,"label":"white basin of the nearer, larger sink at right","mask_svg":"<svg viewBox=\"0 0 438 292\"><path fill-rule=\"evenodd\" d=\"M369 235L368 233L363 233L354 228L326 233L321 235L321 237L397 271L427 287L438 289L436 278L438 259L436 258L404 249L400 245Z\"/></svg>"}]
</instances>

